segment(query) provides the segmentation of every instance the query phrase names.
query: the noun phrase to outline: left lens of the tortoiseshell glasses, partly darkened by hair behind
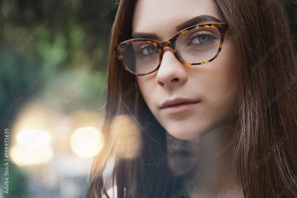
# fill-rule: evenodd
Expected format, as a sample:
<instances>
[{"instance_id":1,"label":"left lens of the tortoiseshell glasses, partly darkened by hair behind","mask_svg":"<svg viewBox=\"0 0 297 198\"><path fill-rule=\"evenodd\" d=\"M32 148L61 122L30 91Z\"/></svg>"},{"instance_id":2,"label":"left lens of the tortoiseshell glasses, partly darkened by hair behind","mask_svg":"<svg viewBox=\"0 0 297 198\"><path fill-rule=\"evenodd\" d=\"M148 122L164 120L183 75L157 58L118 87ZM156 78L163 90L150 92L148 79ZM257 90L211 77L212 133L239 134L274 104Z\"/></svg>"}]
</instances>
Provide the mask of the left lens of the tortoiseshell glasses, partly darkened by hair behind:
<instances>
[{"instance_id":1,"label":"left lens of the tortoiseshell glasses, partly darkened by hair behind","mask_svg":"<svg viewBox=\"0 0 297 198\"><path fill-rule=\"evenodd\" d=\"M143 74L153 71L159 64L159 51L154 43L135 41L122 46L122 61L132 72Z\"/></svg>"}]
</instances>

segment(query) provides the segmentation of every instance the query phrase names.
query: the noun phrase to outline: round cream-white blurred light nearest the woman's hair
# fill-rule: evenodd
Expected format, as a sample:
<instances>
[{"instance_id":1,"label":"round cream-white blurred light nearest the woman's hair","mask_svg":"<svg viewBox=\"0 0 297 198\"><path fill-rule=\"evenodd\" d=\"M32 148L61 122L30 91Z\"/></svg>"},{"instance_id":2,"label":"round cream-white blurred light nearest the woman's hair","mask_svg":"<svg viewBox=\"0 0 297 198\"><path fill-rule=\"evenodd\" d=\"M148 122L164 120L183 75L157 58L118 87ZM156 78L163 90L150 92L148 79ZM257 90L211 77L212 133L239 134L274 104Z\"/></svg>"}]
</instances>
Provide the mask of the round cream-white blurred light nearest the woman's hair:
<instances>
[{"instance_id":1,"label":"round cream-white blurred light nearest the woman's hair","mask_svg":"<svg viewBox=\"0 0 297 198\"><path fill-rule=\"evenodd\" d=\"M104 146L103 134L94 127L76 129L70 137L71 149L80 157L97 155Z\"/></svg>"}]
</instances>

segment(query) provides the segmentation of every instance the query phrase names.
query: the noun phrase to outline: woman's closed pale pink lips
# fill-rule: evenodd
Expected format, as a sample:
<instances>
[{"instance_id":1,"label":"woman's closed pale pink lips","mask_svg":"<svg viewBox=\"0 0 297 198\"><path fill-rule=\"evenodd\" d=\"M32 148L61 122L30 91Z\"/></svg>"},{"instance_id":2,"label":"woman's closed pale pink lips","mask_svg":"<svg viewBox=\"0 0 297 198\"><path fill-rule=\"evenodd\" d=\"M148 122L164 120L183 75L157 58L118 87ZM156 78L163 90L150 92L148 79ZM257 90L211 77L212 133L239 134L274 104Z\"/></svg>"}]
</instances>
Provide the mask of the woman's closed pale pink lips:
<instances>
[{"instance_id":1,"label":"woman's closed pale pink lips","mask_svg":"<svg viewBox=\"0 0 297 198\"><path fill-rule=\"evenodd\" d=\"M199 100L176 98L174 100L166 100L160 105L160 108L166 113L181 113L194 107Z\"/></svg>"}]
</instances>

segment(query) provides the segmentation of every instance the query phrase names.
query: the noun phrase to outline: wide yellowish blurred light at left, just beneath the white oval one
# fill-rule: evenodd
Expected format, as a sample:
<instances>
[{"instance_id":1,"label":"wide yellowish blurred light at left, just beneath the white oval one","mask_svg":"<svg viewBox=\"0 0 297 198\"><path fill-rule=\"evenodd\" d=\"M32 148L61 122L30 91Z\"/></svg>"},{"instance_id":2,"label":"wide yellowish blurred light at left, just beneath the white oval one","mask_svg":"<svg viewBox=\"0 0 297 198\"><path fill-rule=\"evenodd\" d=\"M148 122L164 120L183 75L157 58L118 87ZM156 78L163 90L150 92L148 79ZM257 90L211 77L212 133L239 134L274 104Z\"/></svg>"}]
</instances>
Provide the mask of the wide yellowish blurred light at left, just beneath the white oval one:
<instances>
[{"instance_id":1,"label":"wide yellowish blurred light at left, just beneath the white oval one","mask_svg":"<svg viewBox=\"0 0 297 198\"><path fill-rule=\"evenodd\" d=\"M40 148L15 146L11 149L11 155L18 166L45 164L53 158L53 149L49 145Z\"/></svg>"}]
</instances>

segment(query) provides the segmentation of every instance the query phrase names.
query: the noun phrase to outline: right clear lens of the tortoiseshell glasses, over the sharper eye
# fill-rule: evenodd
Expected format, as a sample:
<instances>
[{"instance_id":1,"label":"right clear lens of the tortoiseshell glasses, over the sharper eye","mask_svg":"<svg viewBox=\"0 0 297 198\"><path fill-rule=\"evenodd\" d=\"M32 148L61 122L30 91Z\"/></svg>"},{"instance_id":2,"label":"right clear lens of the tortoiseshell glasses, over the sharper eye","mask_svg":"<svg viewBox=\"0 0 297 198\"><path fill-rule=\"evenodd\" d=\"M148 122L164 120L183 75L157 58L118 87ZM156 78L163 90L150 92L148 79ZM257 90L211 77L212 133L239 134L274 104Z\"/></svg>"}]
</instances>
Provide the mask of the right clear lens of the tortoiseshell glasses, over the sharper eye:
<instances>
[{"instance_id":1,"label":"right clear lens of the tortoiseshell glasses, over the sharper eye","mask_svg":"<svg viewBox=\"0 0 297 198\"><path fill-rule=\"evenodd\" d=\"M181 34L175 42L176 51L184 61L203 63L217 54L221 36L217 28L200 27Z\"/></svg>"}]
</instances>

